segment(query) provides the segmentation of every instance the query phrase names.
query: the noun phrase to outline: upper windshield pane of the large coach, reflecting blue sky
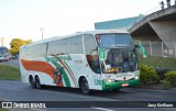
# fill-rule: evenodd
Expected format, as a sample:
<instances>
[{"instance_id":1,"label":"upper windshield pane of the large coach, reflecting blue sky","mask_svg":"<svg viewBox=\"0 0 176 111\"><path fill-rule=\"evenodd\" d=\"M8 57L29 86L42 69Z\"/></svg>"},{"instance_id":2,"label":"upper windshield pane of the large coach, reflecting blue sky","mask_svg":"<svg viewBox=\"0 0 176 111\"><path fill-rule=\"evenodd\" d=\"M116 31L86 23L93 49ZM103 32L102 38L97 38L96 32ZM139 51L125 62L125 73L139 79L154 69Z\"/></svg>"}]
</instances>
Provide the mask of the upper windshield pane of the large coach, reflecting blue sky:
<instances>
[{"instance_id":1,"label":"upper windshield pane of the large coach, reflecting blue sky","mask_svg":"<svg viewBox=\"0 0 176 111\"><path fill-rule=\"evenodd\" d=\"M129 34L98 34L96 38L100 47L112 48L132 46L132 40Z\"/></svg>"}]
</instances>

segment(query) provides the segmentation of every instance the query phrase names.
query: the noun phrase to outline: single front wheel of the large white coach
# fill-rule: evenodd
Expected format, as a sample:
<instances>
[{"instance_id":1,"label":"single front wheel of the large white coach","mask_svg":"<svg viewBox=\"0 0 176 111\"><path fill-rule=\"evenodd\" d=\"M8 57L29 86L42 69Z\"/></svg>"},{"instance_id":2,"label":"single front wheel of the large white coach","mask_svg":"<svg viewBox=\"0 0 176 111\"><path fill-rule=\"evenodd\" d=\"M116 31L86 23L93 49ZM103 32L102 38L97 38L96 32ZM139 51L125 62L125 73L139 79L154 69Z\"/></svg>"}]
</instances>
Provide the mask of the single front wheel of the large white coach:
<instances>
[{"instance_id":1,"label":"single front wheel of the large white coach","mask_svg":"<svg viewBox=\"0 0 176 111\"><path fill-rule=\"evenodd\" d=\"M88 81L87 81L86 78L81 79L80 88L81 88L81 91L84 92L84 95L89 95L90 93L89 85L88 85Z\"/></svg>"}]
</instances>

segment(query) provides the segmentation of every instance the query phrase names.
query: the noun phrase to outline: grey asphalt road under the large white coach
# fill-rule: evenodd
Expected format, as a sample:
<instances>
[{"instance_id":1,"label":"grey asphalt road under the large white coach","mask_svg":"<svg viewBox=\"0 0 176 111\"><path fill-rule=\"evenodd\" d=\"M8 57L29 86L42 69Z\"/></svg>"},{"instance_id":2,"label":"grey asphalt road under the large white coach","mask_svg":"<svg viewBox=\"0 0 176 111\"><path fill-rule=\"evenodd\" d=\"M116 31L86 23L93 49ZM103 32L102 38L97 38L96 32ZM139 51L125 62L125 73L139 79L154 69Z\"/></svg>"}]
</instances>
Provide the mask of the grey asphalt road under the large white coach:
<instances>
[{"instance_id":1,"label":"grey asphalt road under the large white coach","mask_svg":"<svg viewBox=\"0 0 176 111\"><path fill-rule=\"evenodd\" d=\"M0 80L0 100L3 101L33 101L61 103L64 108L25 109L26 111L175 111L175 108L127 108L120 103L131 104L138 101L176 102L176 91L150 90L123 88L116 91L94 91L90 96L82 95L78 89L45 87L45 89L32 89L29 84L21 81ZM88 102L85 102L88 101ZM102 102L101 107L97 103ZM113 101L113 102L112 102ZM124 101L124 102L121 102ZM96 103L97 102L97 103ZM90 103L89 107L82 107ZM92 104L95 103L95 104ZM109 108L108 103L117 103L117 107ZM119 103L119 104L118 104ZM139 102L140 103L140 102ZM130 104L130 106L131 106ZM59 106L59 104L58 104ZM105 107L103 107L105 106ZM80 107L80 108L79 108ZM82 107L82 108L81 108ZM120 107L120 108L119 108ZM15 110L15 109L12 109ZM23 109L24 110L24 109Z\"/></svg>"}]
</instances>

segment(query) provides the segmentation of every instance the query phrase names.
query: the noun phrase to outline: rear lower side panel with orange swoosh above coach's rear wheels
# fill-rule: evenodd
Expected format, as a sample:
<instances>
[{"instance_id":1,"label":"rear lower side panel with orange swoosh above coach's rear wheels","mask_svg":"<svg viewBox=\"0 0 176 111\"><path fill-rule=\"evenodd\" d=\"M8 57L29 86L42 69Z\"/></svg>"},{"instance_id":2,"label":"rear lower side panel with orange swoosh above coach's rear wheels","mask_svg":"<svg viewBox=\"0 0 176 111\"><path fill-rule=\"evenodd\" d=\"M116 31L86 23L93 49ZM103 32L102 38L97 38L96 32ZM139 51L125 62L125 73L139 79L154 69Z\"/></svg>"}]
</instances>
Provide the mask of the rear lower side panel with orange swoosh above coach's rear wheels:
<instances>
[{"instance_id":1,"label":"rear lower side panel with orange swoosh above coach's rear wheels","mask_svg":"<svg viewBox=\"0 0 176 111\"><path fill-rule=\"evenodd\" d=\"M48 63L46 63L46 60L44 58L30 59L30 60L20 59L20 71L21 71L22 81L23 82L29 82L29 77L31 75L33 77L33 79L35 78L35 76L38 76L40 77L40 82L42 85L56 86L54 84L54 79L52 77L52 74L51 75L47 74L47 70L51 70L50 73L52 73L53 70L50 69L48 67L43 67L41 64L37 65L37 63L48 64ZM50 66L52 66L52 65L50 65Z\"/></svg>"}]
</instances>

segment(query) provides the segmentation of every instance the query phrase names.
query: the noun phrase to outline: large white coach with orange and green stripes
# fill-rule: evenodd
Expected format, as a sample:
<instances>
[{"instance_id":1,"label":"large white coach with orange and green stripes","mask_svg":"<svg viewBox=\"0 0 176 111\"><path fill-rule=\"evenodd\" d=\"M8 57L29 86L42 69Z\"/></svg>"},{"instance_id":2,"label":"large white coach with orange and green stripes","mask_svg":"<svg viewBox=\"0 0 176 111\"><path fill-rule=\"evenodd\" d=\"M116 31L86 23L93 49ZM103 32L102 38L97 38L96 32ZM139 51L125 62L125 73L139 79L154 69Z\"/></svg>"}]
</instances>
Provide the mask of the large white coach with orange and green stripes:
<instances>
[{"instance_id":1,"label":"large white coach with orange and green stripes","mask_svg":"<svg viewBox=\"0 0 176 111\"><path fill-rule=\"evenodd\" d=\"M113 90L138 86L136 47L121 30L79 32L54 36L20 48L21 79L32 88L58 86Z\"/></svg>"}]
</instances>

